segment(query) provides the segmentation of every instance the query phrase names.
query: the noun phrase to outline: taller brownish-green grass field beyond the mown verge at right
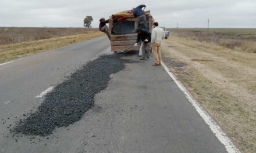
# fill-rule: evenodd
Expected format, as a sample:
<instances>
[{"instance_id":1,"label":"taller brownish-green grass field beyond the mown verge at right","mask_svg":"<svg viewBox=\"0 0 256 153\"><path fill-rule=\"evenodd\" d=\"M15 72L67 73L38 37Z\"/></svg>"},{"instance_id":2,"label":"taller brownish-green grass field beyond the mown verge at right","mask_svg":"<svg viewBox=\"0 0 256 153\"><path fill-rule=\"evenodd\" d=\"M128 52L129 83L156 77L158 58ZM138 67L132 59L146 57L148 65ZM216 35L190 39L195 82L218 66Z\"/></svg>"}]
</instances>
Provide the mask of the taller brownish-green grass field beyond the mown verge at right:
<instances>
[{"instance_id":1,"label":"taller brownish-green grass field beyond the mown verge at right","mask_svg":"<svg viewBox=\"0 0 256 153\"><path fill-rule=\"evenodd\" d=\"M219 46L240 52L256 53L256 29L243 28L170 28L173 35Z\"/></svg>"}]
</instances>

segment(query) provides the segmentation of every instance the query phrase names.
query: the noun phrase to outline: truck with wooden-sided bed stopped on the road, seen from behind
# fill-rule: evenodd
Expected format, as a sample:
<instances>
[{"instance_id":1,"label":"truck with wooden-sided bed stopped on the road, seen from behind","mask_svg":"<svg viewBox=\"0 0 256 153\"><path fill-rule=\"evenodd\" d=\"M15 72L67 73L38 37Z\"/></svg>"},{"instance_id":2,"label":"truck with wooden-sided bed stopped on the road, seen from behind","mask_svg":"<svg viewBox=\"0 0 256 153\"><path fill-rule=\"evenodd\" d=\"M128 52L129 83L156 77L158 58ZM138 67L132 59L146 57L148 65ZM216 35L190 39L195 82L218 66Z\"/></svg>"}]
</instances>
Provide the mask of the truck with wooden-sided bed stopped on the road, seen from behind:
<instances>
[{"instance_id":1,"label":"truck with wooden-sided bed stopped on the road, seen from behind","mask_svg":"<svg viewBox=\"0 0 256 153\"><path fill-rule=\"evenodd\" d=\"M148 30L152 31L154 19L150 11L144 11ZM130 50L140 50L139 46L134 46L137 40L137 33L134 31L136 17L133 16L132 10L126 10L112 14L109 20L109 37L111 39L112 52L128 52ZM141 22L138 28L145 28Z\"/></svg>"}]
</instances>

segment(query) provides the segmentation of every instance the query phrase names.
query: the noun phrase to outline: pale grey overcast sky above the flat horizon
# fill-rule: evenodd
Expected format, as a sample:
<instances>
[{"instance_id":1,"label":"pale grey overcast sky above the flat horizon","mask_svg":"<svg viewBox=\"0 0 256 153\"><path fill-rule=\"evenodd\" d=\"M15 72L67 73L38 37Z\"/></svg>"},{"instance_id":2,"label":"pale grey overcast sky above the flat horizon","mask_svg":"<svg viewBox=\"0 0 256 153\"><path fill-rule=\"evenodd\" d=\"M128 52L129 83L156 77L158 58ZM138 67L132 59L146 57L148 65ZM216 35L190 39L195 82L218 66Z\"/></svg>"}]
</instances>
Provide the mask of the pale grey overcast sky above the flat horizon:
<instances>
[{"instance_id":1,"label":"pale grey overcast sky above the flat horizon","mask_svg":"<svg viewBox=\"0 0 256 153\"><path fill-rule=\"evenodd\" d=\"M0 0L0 27L83 27L101 17L145 4L155 21L165 27L256 28L256 0L79 1Z\"/></svg>"}]
</instances>

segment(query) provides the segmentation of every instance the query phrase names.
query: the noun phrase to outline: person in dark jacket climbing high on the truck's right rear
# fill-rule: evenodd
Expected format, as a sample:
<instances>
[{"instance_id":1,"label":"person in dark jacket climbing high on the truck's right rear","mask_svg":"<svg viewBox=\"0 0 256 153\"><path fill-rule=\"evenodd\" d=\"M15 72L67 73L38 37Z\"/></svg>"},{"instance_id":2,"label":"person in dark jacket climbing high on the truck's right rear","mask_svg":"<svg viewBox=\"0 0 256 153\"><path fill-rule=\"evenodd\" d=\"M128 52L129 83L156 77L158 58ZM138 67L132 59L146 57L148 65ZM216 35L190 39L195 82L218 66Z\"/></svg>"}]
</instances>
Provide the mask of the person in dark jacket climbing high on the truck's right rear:
<instances>
[{"instance_id":1,"label":"person in dark jacket climbing high on the truck's right rear","mask_svg":"<svg viewBox=\"0 0 256 153\"><path fill-rule=\"evenodd\" d=\"M142 8L145 8L145 5L139 5L137 8L133 9L133 15L136 17L135 24L134 24L134 31L137 30L138 24L140 24L140 21L143 21L145 29L148 29L147 20L144 11Z\"/></svg>"}]
</instances>

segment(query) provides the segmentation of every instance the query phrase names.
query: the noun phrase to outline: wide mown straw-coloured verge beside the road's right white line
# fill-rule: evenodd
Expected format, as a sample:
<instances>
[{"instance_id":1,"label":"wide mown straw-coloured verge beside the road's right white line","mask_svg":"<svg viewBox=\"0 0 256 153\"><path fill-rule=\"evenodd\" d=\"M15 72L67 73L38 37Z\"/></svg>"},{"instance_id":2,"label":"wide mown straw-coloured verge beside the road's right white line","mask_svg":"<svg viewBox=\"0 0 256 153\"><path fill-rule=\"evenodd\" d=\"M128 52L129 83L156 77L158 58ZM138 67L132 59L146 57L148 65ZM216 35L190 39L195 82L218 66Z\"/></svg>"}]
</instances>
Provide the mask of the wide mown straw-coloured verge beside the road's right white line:
<instances>
[{"instance_id":1,"label":"wide mown straw-coloured verge beside the road's right white line","mask_svg":"<svg viewBox=\"0 0 256 153\"><path fill-rule=\"evenodd\" d=\"M256 152L256 54L170 37L163 61L241 151Z\"/></svg>"}]
</instances>

